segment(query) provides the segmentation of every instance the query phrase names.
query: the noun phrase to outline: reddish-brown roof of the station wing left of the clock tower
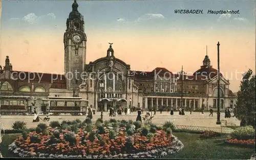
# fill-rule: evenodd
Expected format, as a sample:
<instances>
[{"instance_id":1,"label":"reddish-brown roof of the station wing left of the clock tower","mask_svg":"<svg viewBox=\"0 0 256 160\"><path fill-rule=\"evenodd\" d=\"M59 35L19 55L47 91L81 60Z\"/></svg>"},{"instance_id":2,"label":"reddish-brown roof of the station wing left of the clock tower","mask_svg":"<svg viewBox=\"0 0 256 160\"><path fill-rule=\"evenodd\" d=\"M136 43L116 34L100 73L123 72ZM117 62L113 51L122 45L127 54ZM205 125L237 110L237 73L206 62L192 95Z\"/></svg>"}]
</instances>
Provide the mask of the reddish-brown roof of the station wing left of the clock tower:
<instances>
[{"instance_id":1,"label":"reddish-brown roof of the station wing left of the clock tower","mask_svg":"<svg viewBox=\"0 0 256 160\"><path fill-rule=\"evenodd\" d=\"M37 73L37 72L22 72L13 71L17 73L17 80L31 81L31 82L45 82L52 83L51 88L66 88L66 77L61 74ZM13 75L15 76L15 75Z\"/></svg>"}]
</instances>

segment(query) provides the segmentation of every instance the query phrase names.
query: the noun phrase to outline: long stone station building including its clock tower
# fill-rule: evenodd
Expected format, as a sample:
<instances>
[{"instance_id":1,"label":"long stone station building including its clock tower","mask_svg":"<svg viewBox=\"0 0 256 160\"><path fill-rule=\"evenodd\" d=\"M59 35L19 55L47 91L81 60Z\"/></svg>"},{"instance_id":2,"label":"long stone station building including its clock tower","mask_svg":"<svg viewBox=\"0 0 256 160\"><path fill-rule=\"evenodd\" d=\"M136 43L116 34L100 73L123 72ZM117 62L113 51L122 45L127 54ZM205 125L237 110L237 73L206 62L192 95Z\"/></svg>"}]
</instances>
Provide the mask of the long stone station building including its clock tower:
<instances>
[{"instance_id":1,"label":"long stone station building including its clock tower","mask_svg":"<svg viewBox=\"0 0 256 160\"><path fill-rule=\"evenodd\" d=\"M112 105L142 107L144 110L160 106L217 109L217 70L210 65L208 55L193 75L187 75L183 70L172 73L163 67L148 72L131 71L129 64L114 55L110 43L105 57L86 64L87 36L83 16L77 8L78 4L74 2L63 36L66 74L13 71L7 56L4 68L0 68L2 106L13 105L11 102L14 101L17 101L17 106L23 105L22 96L28 96L30 98L26 99L25 109L35 103L40 110L41 99L48 97L80 97L88 100L88 106L105 111ZM74 75L78 78L74 78ZM236 95L231 92L229 81L222 75L220 84L220 105L223 110L233 106Z\"/></svg>"}]
</instances>

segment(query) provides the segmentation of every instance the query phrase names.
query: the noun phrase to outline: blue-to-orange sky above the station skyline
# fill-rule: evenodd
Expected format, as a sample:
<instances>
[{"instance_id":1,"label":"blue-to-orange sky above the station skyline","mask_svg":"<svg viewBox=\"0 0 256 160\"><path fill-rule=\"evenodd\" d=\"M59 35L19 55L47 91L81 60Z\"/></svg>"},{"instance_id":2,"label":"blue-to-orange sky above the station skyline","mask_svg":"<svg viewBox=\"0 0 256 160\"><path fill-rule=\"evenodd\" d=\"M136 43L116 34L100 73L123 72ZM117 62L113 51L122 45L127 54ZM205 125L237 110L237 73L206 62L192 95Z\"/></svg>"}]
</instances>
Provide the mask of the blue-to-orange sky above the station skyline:
<instances>
[{"instance_id":1,"label":"blue-to-orange sky above the station skyline","mask_svg":"<svg viewBox=\"0 0 256 160\"><path fill-rule=\"evenodd\" d=\"M87 60L106 56L112 42L115 57L131 70L193 74L207 54L239 90L242 73L255 74L255 1L77 1L84 16ZM2 1L1 54L15 71L63 73L63 34L73 1ZM203 14L175 14L175 9ZM239 14L207 14L208 10L239 10ZM237 75L237 76L236 76Z\"/></svg>"}]
</instances>

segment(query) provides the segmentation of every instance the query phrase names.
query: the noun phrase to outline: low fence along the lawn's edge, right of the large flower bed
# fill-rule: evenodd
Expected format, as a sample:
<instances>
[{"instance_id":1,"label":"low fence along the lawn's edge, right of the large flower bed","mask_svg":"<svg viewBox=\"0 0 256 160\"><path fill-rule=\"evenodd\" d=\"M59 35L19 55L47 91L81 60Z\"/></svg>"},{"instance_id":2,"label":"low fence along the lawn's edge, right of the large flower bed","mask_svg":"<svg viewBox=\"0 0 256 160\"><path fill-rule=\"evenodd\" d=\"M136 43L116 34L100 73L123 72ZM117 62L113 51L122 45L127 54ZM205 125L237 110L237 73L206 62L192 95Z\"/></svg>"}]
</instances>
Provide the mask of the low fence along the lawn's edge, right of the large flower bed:
<instances>
[{"instance_id":1,"label":"low fence along the lawn's edge, right of the large flower bed","mask_svg":"<svg viewBox=\"0 0 256 160\"><path fill-rule=\"evenodd\" d=\"M227 127L200 127L200 126L183 126L183 125L176 125L177 129L187 129L187 130L194 130L194 131L215 131L219 133L231 133L233 131L232 128Z\"/></svg>"}]
</instances>

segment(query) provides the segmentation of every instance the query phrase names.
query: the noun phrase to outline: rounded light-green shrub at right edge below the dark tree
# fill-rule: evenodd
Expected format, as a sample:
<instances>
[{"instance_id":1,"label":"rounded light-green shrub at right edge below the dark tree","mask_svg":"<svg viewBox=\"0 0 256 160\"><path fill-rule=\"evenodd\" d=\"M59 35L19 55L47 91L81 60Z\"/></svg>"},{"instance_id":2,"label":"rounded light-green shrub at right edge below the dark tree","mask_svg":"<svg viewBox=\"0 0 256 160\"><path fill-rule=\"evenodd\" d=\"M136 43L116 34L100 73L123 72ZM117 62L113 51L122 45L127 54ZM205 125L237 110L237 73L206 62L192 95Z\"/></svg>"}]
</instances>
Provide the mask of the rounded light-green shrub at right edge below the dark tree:
<instances>
[{"instance_id":1,"label":"rounded light-green shrub at right edge below the dark tree","mask_svg":"<svg viewBox=\"0 0 256 160\"><path fill-rule=\"evenodd\" d=\"M252 126L239 127L231 133L231 137L239 140L255 139L255 129Z\"/></svg>"}]
</instances>

